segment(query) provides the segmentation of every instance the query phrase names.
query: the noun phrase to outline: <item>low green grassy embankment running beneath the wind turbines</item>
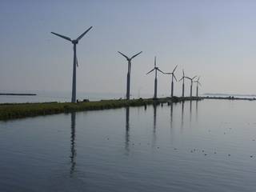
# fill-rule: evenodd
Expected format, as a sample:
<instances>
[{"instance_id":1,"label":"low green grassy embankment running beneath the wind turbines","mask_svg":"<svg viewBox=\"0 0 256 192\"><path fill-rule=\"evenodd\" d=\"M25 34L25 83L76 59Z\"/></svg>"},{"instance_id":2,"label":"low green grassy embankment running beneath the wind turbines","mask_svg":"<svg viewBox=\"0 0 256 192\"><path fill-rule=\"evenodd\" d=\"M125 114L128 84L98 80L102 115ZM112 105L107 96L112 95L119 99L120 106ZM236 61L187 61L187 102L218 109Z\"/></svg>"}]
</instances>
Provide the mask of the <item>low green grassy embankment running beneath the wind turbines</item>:
<instances>
[{"instance_id":1,"label":"low green grassy embankment running beneath the wind turbines","mask_svg":"<svg viewBox=\"0 0 256 192\"><path fill-rule=\"evenodd\" d=\"M125 106L146 106L152 104L160 104L164 102L182 102L190 98L152 98L132 99L127 101L121 100L102 100L98 102L43 102L43 103L12 103L0 105L0 120L8 120L14 118L34 117L46 114L70 113L82 110L105 110L114 109ZM198 100L200 98L193 98Z\"/></svg>"}]
</instances>

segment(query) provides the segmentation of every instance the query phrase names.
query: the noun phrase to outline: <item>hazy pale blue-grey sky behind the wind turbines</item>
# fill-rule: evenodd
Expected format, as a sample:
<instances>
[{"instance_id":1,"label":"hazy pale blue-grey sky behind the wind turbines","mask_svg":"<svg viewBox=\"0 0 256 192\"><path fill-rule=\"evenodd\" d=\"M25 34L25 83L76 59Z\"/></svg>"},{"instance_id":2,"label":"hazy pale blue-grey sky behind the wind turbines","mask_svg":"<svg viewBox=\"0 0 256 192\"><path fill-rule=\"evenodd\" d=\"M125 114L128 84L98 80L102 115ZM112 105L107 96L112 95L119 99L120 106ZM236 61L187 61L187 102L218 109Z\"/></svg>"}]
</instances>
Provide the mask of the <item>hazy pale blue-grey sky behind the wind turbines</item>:
<instances>
[{"instance_id":1,"label":"hazy pale blue-grey sky behind the wind turbines","mask_svg":"<svg viewBox=\"0 0 256 192\"><path fill-rule=\"evenodd\" d=\"M70 90L73 47L51 31L79 42L77 90L126 92L127 62L133 55L131 94L152 94L158 66L178 64L200 75L202 93L256 94L256 1L35 1L2 0L0 90ZM195 88L195 87L194 87ZM174 84L180 94L182 83ZM170 76L159 74L159 94L170 94ZM186 82L186 94L189 82Z\"/></svg>"}]
</instances>

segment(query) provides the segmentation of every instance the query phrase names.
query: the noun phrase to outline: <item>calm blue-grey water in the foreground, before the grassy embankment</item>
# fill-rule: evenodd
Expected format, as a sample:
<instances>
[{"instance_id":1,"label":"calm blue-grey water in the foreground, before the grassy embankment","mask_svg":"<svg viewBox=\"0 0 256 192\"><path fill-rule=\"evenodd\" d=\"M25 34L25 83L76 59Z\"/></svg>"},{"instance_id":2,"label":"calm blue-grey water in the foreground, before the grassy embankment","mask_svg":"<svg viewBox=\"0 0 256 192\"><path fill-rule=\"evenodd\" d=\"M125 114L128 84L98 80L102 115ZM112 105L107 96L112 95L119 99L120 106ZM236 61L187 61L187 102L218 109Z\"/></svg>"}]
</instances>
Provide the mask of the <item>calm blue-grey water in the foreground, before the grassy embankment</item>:
<instances>
[{"instance_id":1,"label":"calm blue-grey water in the foreground, before the grassy embankment","mask_svg":"<svg viewBox=\"0 0 256 192\"><path fill-rule=\"evenodd\" d=\"M256 191L256 102L0 122L0 191Z\"/></svg>"}]
</instances>

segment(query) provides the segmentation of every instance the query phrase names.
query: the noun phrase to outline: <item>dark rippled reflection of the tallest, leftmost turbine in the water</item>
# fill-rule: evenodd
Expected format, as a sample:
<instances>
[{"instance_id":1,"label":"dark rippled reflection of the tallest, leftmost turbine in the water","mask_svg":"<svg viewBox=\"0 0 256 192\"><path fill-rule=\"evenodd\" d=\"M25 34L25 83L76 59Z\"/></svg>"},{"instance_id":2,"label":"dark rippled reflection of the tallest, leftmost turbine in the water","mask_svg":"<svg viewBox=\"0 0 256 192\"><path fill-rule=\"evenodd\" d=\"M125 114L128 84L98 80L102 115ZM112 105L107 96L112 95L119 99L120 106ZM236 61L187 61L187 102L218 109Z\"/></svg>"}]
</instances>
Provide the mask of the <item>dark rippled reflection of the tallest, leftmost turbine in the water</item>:
<instances>
[{"instance_id":1,"label":"dark rippled reflection of the tallest, leftmost turbine in the water","mask_svg":"<svg viewBox=\"0 0 256 192\"><path fill-rule=\"evenodd\" d=\"M74 167L75 167L75 158L76 158L76 150L75 150L75 112L71 113L71 136L70 136L70 176L74 173Z\"/></svg>"}]
</instances>

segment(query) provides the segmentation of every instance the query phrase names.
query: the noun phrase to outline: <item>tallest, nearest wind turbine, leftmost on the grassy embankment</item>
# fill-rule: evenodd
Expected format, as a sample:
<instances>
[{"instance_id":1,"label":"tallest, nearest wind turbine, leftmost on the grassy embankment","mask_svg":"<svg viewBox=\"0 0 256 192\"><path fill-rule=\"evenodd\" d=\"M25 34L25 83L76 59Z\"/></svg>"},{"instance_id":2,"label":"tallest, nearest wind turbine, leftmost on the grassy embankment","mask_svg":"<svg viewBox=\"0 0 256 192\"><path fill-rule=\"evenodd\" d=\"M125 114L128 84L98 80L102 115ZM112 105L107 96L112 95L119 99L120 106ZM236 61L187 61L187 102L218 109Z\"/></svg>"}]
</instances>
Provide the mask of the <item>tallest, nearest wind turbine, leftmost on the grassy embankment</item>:
<instances>
[{"instance_id":1,"label":"tallest, nearest wind turbine, leftmost on the grassy embankment","mask_svg":"<svg viewBox=\"0 0 256 192\"><path fill-rule=\"evenodd\" d=\"M71 38L68 38L62 34L56 34L54 32L51 32L52 34L57 35L60 38L64 38L67 41L72 42L73 44L73 49L74 49L74 62L73 62L73 81L72 81L72 98L71 98L71 102L76 102L76 76L77 76L77 71L76 71L76 67L78 66L78 58L77 58L77 44L79 42L79 40L92 28L92 26L90 26L90 28L88 30L86 30L83 34L81 34L78 38L72 40Z\"/></svg>"}]
</instances>

